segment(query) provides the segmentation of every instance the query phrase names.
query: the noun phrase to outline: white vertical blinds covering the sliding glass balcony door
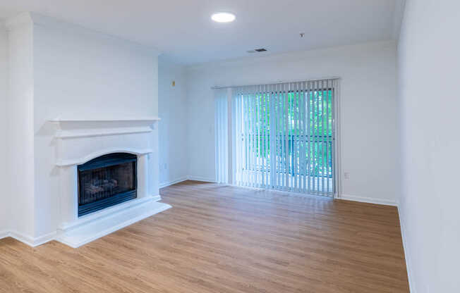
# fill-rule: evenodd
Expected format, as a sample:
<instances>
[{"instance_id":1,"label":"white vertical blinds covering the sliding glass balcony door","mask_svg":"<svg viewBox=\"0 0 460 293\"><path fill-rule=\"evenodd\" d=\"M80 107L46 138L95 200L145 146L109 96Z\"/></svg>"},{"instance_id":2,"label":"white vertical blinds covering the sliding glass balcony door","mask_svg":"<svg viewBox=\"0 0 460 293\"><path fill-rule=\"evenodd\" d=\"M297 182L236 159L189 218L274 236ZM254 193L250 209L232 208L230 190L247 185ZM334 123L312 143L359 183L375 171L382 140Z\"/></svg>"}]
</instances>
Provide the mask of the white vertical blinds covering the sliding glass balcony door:
<instances>
[{"instance_id":1,"label":"white vertical blinds covering the sliding glass balcony door","mask_svg":"<svg viewBox=\"0 0 460 293\"><path fill-rule=\"evenodd\" d=\"M337 82L233 87L231 111L219 108L231 113L231 132L217 129L232 136L230 148L217 142L232 162L216 170L230 170L234 185L333 196Z\"/></svg>"}]
</instances>

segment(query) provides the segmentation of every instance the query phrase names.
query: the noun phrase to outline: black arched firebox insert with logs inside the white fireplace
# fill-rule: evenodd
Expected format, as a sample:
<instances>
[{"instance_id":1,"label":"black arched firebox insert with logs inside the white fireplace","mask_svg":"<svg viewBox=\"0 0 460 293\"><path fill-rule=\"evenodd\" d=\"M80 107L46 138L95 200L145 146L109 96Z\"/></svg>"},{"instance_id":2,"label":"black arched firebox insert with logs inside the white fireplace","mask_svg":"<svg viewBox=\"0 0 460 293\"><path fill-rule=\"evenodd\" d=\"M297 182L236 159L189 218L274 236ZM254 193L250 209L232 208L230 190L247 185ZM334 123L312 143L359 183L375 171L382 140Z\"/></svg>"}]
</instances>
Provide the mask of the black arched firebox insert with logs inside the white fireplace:
<instances>
[{"instance_id":1,"label":"black arched firebox insert with logs inside the white fireplace","mask_svg":"<svg viewBox=\"0 0 460 293\"><path fill-rule=\"evenodd\" d=\"M133 154L114 153L79 165L78 216L135 199L137 160Z\"/></svg>"}]
</instances>

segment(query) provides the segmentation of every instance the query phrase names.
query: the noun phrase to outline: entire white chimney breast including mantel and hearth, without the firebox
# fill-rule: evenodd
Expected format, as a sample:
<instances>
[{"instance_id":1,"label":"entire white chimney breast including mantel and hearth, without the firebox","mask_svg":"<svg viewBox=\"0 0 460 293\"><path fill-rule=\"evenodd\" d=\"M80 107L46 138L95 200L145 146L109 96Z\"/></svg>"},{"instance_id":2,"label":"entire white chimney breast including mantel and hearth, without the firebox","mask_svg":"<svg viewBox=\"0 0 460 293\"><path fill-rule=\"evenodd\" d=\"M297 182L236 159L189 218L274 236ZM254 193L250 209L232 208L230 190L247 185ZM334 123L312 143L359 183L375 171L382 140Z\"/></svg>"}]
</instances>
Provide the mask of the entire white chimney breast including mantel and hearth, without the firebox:
<instances>
[{"instance_id":1,"label":"entire white chimney breast including mantel and hearth, without the firebox","mask_svg":"<svg viewBox=\"0 0 460 293\"><path fill-rule=\"evenodd\" d=\"M159 51L37 13L6 28L11 197L0 237L78 247L169 208L158 202ZM137 197L79 217L78 165L113 153L135 155Z\"/></svg>"}]
</instances>

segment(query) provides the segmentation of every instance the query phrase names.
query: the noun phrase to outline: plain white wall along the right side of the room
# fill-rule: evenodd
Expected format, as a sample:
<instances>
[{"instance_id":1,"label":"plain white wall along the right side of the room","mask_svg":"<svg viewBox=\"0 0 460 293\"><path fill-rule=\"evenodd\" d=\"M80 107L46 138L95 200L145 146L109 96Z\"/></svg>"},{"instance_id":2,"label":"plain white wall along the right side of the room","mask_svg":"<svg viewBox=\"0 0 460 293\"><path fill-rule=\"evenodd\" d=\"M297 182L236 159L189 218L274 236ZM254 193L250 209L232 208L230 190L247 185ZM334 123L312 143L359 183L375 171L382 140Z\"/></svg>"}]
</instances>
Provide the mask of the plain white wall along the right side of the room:
<instances>
[{"instance_id":1,"label":"plain white wall along the right side of the room","mask_svg":"<svg viewBox=\"0 0 460 293\"><path fill-rule=\"evenodd\" d=\"M412 292L460 292L460 2L409 0L398 45L401 224Z\"/></svg>"}]
</instances>

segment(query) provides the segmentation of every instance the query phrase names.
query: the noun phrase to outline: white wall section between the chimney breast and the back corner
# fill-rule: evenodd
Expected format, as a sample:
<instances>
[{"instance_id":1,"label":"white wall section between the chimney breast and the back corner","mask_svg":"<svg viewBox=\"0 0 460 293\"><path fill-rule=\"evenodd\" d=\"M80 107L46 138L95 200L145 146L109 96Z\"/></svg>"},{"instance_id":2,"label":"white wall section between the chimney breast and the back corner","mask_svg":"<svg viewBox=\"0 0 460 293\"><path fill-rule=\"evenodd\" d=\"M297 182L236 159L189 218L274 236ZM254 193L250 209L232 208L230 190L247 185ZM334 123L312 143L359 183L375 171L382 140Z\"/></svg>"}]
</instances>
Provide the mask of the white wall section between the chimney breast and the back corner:
<instances>
[{"instance_id":1,"label":"white wall section between the chimney breast and the back corner","mask_svg":"<svg viewBox=\"0 0 460 293\"><path fill-rule=\"evenodd\" d=\"M172 82L176 85L173 87ZM186 73L165 58L158 63L159 185L171 185L188 175Z\"/></svg>"}]
</instances>

